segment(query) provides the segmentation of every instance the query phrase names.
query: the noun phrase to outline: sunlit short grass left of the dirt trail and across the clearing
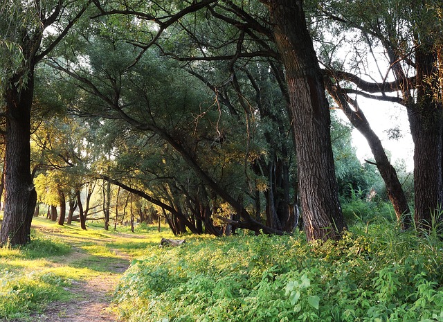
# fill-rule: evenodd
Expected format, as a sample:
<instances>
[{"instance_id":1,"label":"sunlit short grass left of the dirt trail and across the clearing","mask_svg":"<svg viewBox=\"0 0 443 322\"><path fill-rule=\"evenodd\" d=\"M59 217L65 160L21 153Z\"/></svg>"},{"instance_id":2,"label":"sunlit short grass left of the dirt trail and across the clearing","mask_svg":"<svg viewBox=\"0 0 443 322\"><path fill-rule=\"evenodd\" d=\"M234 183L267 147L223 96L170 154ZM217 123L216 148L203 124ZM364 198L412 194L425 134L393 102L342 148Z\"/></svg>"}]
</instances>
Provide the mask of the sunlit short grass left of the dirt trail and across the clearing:
<instances>
[{"instance_id":1,"label":"sunlit short grass left of the dirt trail and across the clearing","mask_svg":"<svg viewBox=\"0 0 443 322\"><path fill-rule=\"evenodd\" d=\"M0 320L33 321L46 305L73 298L69 287L78 281L107 274L109 267L142 256L169 232L144 226L136 233L119 228L104 231L89 224L60 226L42 217L33 219L31 242L24 247L0 248Z\"/></svg>"}]
</instances>

